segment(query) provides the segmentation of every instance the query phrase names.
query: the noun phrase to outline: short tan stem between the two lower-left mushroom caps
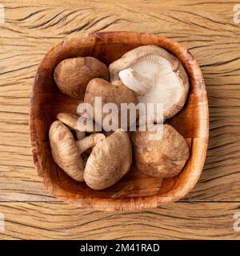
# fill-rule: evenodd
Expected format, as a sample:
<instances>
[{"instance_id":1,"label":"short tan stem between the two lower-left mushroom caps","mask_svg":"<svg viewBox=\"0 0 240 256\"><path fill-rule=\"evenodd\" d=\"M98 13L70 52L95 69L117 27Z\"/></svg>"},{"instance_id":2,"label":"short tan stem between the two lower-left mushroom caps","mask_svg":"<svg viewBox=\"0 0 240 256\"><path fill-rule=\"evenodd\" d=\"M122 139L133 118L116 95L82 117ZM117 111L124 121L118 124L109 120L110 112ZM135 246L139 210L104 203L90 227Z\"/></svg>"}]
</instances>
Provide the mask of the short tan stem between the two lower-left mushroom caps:
<instances>
[{"instance_id":1,"label":"short tan stem between the two lower-left mushroom caps","mask_svg":"<svg viewBox=\"0 0 240 256\"><path fill-rule=\"evenodd\" d=\"M103 138L106 138L104 134L91 134L81 140L75 142L78 147L78 153L81 155L84 151L95 146L98 142L102 141Z\"/></svg>"}]
</instances>

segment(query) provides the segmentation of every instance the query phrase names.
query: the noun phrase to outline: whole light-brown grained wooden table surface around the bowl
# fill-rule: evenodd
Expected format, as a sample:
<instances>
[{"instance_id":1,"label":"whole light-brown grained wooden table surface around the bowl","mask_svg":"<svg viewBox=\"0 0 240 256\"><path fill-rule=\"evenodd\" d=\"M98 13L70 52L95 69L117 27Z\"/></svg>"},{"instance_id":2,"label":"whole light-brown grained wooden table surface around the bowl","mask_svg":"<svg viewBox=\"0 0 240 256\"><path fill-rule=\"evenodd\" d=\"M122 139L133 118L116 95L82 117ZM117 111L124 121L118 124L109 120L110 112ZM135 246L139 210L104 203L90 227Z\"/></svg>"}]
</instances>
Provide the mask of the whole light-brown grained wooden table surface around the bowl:
<instances>
[{"instance_id":1,"label":"whole light-brown grained wooden table surface around the bowl","mask_svg":"<svg viewBox=\"0 0 240 256\"><path fill-rule=\"evenodd\" d=\"M240 212L240 23L238 17L234 19L236 3L2 2L0 212L5 216L5 231L0 231L0 238L239 239L240 231L234 230L234 214ZM130 213L80 209L51 197L34 170L28 119L38 63L62 38L97 30L162 34L181 42L198 59L209 98L210 143L198 185L180 202Z\"/></svg>"}]
</instances>

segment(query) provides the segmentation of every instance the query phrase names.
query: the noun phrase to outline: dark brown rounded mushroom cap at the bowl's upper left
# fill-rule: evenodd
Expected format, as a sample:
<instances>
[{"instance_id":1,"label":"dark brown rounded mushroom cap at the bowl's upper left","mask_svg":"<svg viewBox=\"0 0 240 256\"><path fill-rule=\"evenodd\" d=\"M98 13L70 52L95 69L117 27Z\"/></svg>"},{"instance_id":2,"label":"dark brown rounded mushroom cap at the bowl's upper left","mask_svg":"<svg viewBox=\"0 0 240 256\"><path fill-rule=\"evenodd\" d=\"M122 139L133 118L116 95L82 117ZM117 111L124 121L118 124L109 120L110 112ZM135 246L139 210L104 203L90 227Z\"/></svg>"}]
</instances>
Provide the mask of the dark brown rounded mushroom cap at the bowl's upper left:
<instances>
[{"instance_id":1,"label":"dark brown rounded mushroom cap at the bowl's upper left","mask_svg":"<svg viewBox=\"0 0 240 256\"><path fill-rule=\"evenodd\" d=\"M109 80L106 65L94 57L66 58L54 70L54 80L63 94L83 98L92 78Z\"/></svg>"}]
</instances>

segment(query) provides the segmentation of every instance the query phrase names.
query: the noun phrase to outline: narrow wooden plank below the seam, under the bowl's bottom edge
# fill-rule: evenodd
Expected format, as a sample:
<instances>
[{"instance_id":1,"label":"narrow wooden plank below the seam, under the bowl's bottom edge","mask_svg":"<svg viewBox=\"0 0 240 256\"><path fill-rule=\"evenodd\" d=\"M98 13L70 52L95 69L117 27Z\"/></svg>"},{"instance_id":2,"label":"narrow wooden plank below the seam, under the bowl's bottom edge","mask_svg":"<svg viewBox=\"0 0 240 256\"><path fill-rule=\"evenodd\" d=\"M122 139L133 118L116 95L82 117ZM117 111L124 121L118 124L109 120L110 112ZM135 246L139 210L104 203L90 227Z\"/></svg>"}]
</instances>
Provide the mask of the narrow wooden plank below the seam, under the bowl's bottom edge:
<instances>
[{"instance_id":1,"label":"narrow wooden plank below the seam, under the bowl's bottom edge","mask_svg":"<svg viewBox=\"0 0 240 256\"><path fill-rule=\"evenodd\" d=\"M103 213L56 202L1 202L1 239L239 239L239 203L171 203L142 212Z\"/></svg>"}]
</instances>

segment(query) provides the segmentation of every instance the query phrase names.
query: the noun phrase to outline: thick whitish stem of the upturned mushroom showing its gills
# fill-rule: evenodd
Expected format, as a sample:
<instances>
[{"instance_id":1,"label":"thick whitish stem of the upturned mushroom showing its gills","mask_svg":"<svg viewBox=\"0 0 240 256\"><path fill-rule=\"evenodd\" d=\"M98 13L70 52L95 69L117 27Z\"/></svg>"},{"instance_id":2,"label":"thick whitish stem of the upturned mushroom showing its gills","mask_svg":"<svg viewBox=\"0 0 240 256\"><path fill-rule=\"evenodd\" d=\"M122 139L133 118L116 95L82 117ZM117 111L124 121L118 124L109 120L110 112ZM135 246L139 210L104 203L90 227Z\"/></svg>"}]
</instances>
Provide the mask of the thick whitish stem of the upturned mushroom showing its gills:
<instances>
[{"instance_id":1,"label":"thick whitish stem of the upturned mushroom showing its gills","mask_svg":"<svg viewBox=\"0 0 240 256\"><path fill-rule=\"evenodd\" d=\"M134 90L134 92L138 95L146 94L146 92L150 90L153 85L153 81L150 78L144 78L131 67L121 70L119 72L119 77L125 86L131 90Z\"/></svg>"}]
</instances>

